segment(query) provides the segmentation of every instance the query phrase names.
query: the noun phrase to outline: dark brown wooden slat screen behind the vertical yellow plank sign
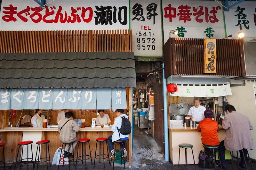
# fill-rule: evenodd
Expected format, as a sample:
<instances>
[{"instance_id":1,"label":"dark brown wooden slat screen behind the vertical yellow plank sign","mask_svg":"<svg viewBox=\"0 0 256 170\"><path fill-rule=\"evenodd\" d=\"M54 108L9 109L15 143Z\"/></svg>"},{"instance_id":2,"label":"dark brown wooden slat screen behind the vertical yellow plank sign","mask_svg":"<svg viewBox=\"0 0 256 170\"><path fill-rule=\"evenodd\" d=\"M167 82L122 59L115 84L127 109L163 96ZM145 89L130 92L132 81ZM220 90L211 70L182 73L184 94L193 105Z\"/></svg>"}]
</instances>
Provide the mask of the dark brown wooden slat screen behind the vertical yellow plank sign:
<instances>
[{"instance_id":1,"label":"dark brown wooden slat screen behind the vertical yellow plank sign","mask_svg":"<svg viewBox=\"0 0 256 170\"><path fill-rule=\"evenodd\" d=\"M217 39L216 74L204 72L204 39L170 38L164 44L165 78L171 75L245 76L243 40Z\"/></svg>"}]
</instances>

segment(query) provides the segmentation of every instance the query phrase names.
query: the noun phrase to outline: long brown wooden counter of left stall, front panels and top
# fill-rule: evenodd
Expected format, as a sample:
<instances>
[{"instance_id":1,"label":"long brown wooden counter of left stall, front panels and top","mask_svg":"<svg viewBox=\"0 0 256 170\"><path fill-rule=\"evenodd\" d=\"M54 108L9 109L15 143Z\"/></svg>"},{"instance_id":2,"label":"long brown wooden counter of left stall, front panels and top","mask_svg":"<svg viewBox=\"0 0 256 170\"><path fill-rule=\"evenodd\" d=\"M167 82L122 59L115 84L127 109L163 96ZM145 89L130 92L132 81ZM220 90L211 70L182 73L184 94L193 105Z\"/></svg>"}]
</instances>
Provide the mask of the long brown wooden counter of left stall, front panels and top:
<instances>
[{"instance_id":1,"label":"long brown wooden counter of left stall, front panels and top","mask_svg":"<svg viewBox=\"0 0 256 170\"><path fill-rule=\"evenodd\" d=\"M54 153L57 150L58 147L61 147L61 142L59 139L59 132L58 128L42 128L42 127L36 127L36 128L19 128L19 127L8 127L4 129L0 129L0 132L2 134L2 141L5 143L4 151L5 151L5 161L6 162L15 162L16 154L18 152L18 142L24 141L24 140L32 140L32 148L33 148L33 156L35 158L36 155L36 142L39 140L50 140L49 143L49 149L50 149L50 158L51 161L53 159ZM90 139L90 147L91 147L91 154L92 154L92 160L94 160L95 155L95 148L96 148L96 138L99 137L105 137L108 138L113 132L109 127L101 128L95 127L85 127L80 128L79 132L76 133L76 137L78 139L81 138L89 138ZM99 145L98 145L99 146ZM109 152L107 151L106 145L104 144L105 153ZM88 147L88 148L87 148ZM27 147L24 147L24 153L27 152ZM119 147L118 147L119 148ZM99 148L97 147L97 153ZM126 142L126 149L129 152L129 140ZM102 147L101 147L102 150ZM86 146L86 151L89 151L89 146ZM79 146L79 154L81 155L81 144ZM101 151L102 152L102 151ZM29 154L30 154L30 147L29 147ZM75 148L75 159L76 159L76 153L77 153L77 146ZM15 156L14 156L15 155ZM26 155L26 154L25 154ZM128 153L129 155L129 153ZM110 155L109 155L110 156ZM23 154L24 157L24 154ZM41 158L45 157L45 147L41 147ZM96 159L98 160L98 159ZM128 160L128 157L127 157Z\"/></svg>"}]
</instances>

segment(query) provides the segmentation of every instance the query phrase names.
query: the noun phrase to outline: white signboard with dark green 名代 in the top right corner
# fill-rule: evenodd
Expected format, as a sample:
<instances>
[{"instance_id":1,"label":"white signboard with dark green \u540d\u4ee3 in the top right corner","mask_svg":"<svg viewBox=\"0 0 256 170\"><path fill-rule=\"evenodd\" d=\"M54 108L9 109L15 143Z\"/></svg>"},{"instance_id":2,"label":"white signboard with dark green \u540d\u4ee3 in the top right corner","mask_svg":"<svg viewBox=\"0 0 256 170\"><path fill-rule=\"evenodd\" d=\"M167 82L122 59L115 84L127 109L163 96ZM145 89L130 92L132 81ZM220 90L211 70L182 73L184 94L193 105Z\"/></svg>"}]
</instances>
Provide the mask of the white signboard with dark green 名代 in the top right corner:
<instances>
[{"instance_id":1,"label":"white signboard with dark green \u540d\u4ee3 in the top right corner","mask_svg":"<svg viewBox=\"0 0 256 170\"><path fill-rule=\"evenodd\" d=\"M256 38L256 2L244 1L224 12L227 36L238 39L238 32L244 33L244 40Z\"/></svg>"}]
</instances>

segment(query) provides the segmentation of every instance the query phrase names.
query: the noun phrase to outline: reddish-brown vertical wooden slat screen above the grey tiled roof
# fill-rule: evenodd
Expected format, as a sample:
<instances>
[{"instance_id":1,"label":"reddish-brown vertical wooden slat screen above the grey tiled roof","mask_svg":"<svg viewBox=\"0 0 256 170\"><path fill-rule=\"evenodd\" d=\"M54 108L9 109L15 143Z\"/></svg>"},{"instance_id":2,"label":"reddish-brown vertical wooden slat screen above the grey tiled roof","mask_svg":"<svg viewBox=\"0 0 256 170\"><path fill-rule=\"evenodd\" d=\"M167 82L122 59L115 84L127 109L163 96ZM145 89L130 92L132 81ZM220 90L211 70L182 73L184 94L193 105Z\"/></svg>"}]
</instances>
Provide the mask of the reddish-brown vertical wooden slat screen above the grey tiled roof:
<instances>
[{"instance_id":1,"label":"reddish-brown vertical wooden slat screen above the grey tiled roof","mask_svg":"<svg viewBox=\"0 0 256 170\"><path fill-rule=\"evenodd\" d=\"M0 31L1 53L132 51L132 30Z\"/></svg>"}]
</instances>

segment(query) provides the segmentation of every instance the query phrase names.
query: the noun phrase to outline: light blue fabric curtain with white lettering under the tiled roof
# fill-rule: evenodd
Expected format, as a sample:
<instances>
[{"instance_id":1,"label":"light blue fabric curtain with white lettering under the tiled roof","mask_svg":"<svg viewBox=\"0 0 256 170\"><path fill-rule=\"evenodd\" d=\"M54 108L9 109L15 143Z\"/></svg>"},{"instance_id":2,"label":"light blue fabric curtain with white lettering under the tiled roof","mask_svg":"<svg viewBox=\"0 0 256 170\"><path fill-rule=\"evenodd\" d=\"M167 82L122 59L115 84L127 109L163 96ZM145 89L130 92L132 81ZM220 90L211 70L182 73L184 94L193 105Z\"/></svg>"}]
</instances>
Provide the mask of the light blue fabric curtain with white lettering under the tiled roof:
<instances>
[{"instance_id":1,"label":"light blue fabric curtain with white lettering under the tiled roof","mask_svg":"<svg viewBox=\"0 0 256 170\"><path fill-rule=\"evenodd\" d=\"M0 89L0 110L39 108L127 108L126 89Z\"/></svg>"}]
</instances>

